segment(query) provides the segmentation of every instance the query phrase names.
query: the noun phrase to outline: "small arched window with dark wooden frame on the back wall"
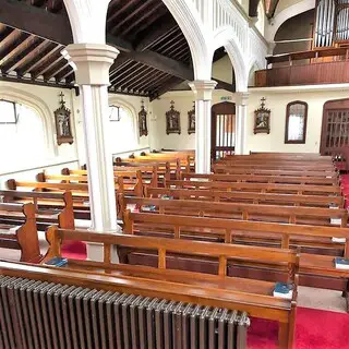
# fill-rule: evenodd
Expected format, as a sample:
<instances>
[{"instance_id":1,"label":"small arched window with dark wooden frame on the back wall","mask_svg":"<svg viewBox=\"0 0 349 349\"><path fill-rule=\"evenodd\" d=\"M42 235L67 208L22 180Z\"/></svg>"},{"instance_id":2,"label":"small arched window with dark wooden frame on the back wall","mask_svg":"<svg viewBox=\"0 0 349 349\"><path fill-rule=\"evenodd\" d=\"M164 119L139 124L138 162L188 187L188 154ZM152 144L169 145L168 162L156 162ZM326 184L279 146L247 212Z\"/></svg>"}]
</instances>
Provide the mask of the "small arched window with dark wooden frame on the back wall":
<instances>
[{"instance_id":1,"label":"small arched window with dark wooden frame on the back wall","mask_svg":"<svg viewBox=\"0 0 349 349\"><path fill-rule=\"evenodd\" d=\"M294 100L286 108L285 143L304 144L306 136L308 104Z\"/></svg>"}]
</instances>

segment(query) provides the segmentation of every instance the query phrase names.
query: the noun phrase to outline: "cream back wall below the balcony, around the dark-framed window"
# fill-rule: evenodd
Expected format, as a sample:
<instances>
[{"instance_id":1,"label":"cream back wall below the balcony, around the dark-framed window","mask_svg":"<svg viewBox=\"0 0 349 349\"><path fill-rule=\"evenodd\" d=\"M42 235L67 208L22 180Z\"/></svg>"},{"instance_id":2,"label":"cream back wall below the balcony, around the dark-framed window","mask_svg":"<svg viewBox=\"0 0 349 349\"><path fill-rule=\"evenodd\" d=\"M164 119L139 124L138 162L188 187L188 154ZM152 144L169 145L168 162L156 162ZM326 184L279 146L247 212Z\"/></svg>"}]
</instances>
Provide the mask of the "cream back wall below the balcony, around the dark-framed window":
<instances>
[{"instance_id":1,"label":"cream back wall below the balcony, around the dark-framed window","mask_svg":"<svg viewBox=\"0 0 349 349\"><path fill-rule=\"evenodd\" d=\"M327 100L348 98L348 89L322 89L308 86L309 89L291 88L250 88L248 108L246 152L287 152L318 153L323 106ZM311 89L311 91L310 91ZM266 98L266 108L272 110L270 134L253 134L254 110L260 107L261 98ZM285 144L286 106L293 100L308 103L308 125L305 144Z\"/></svg>"}]
</instances>

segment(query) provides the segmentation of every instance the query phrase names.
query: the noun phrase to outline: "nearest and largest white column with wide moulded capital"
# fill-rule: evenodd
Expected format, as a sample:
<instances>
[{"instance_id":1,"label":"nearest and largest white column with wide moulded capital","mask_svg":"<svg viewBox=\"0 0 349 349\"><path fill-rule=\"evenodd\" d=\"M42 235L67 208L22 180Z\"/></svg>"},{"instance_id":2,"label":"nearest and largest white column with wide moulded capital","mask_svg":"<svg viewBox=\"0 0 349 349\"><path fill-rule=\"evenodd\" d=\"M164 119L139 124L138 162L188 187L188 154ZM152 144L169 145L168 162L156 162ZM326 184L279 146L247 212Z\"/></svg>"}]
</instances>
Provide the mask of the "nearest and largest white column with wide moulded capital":
<instances>
[{"instance_id":1,"label":"nearest and largest white column with wide moulded capital","mask_svg":"<svg viewBox=\"0 0 349 349\"><path fill-rule=\"evenodd\" d=\"M65 58L76 65L76 83L83 98L83 123L92 230L117 232L117 206L112 153L109 148L108 91L109 68L119 51L104 44L72 44Z\"/></svg>"}]
</instances>

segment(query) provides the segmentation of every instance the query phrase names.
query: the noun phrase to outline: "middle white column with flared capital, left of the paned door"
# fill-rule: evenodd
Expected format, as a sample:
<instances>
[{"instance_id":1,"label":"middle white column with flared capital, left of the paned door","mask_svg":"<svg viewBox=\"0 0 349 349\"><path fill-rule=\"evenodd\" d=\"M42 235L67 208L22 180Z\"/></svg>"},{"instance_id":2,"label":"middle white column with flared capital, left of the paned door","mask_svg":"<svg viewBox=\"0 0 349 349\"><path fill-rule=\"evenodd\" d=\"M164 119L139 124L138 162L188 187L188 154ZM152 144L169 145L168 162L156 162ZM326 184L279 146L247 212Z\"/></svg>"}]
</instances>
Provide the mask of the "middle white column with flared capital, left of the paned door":
<instances>
[{"instance_id":1,"label":"middle white column with flared capital, left of the paned door","mask_svg":"<svg viewBox=\"0 0 349 349\"><path fill-rule=\"evenodd\" d=\"M189 83L195 95L195 171L210 172L210 104L215 81L193 81Z\"/></svg>"}]
</instances>

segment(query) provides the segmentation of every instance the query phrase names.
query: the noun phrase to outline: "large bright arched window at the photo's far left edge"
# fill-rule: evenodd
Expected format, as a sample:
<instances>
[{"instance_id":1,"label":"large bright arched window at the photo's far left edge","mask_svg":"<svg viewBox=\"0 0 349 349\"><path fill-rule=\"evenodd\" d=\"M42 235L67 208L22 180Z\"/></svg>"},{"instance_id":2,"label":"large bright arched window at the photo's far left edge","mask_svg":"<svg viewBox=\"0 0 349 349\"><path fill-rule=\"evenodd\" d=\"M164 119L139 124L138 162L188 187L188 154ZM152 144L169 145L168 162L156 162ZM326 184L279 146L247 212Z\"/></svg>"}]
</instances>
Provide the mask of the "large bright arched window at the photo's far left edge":
<instances>
[{"instance_id":1,"label":"large bright arched window at the photo's far left edge","mask_svg":"<svg viewBox=\"0 0 349 349\"><path fill-rule=\"evenodd\" d=\"M1 160L7 165L31 165L47 156L45 125L32 108L0 100Z\"/></svg>"}]
</instances>

